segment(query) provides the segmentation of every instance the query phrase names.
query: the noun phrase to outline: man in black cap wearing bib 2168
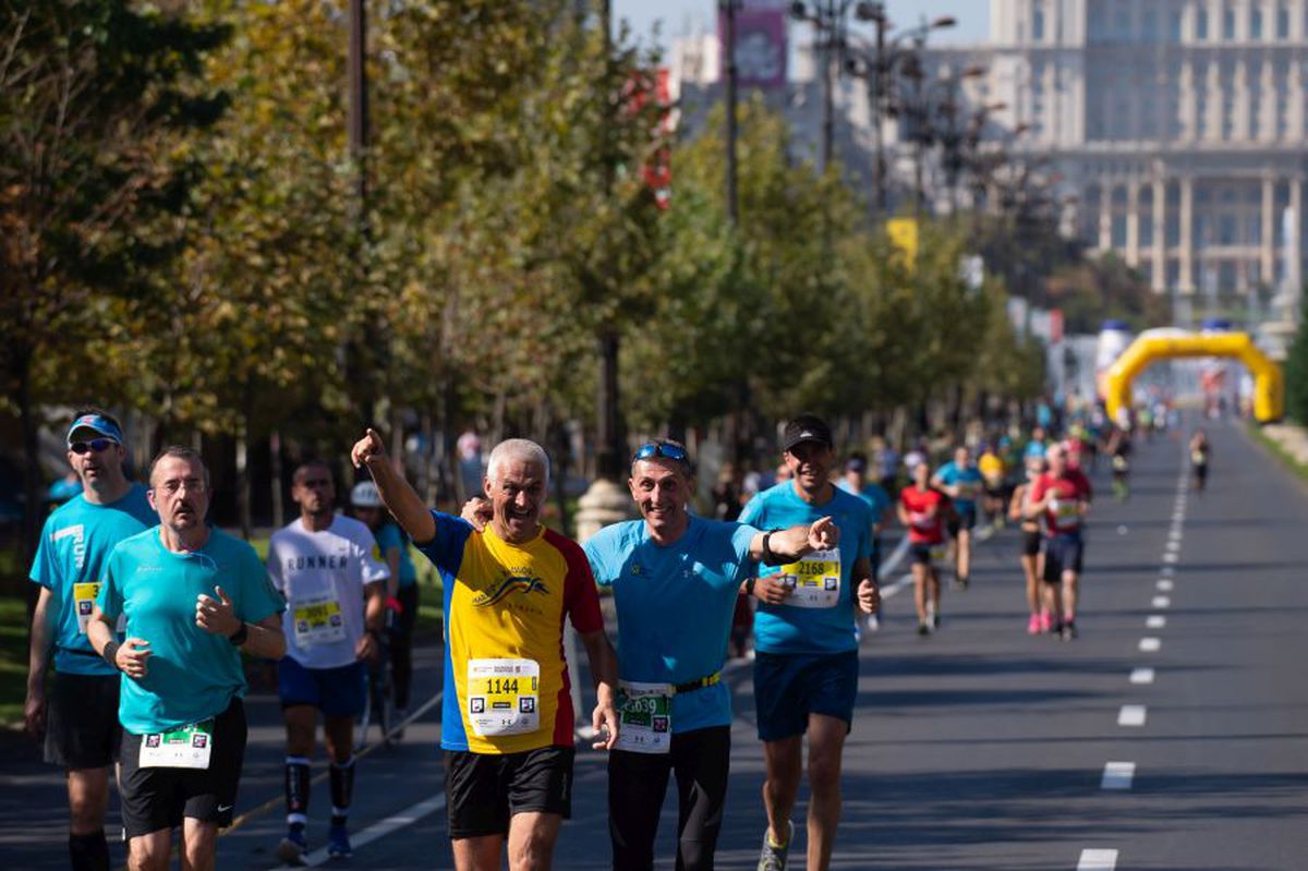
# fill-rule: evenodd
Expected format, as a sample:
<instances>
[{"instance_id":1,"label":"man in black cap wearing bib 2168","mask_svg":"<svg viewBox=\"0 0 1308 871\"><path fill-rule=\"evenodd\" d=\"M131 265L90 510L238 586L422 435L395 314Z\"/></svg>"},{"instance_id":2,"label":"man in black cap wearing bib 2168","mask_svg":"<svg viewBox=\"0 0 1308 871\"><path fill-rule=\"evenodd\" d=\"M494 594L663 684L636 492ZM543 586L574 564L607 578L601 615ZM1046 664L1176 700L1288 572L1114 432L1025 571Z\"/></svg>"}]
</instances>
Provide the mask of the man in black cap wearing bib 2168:
<instances>
[{"instance_id":1,"label":"man in black cap wearing bib 2168","mask_svg":"<svg viewBox=\"0 0 1308 871\"><path fill-rule=\"evenodd\" d=\"M786 424L781 449L791 480L759 493L742 523L770 530L829 517L840 544L760 572L757 586L780 586L780 603L755 615L753 697L768 779L768 830L759 867L785 867L808 734L808 867L824 868L840 823L840 764L858 696L855 607L876 611L872 510L831 481L836 449L831 429L812 415Z\"/></svg>"}]
</instances>

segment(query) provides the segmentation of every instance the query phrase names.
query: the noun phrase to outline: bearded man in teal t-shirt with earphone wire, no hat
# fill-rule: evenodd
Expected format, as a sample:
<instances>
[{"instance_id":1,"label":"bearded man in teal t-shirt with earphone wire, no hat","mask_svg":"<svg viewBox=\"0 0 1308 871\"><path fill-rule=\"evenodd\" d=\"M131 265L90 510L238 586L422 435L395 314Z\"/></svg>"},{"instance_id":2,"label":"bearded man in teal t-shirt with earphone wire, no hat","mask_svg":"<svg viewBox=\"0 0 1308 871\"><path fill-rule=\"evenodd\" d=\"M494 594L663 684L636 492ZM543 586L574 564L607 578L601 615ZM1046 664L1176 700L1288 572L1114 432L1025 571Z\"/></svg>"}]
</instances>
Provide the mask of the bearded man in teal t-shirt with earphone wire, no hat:
<instances>
[{"instance_id":1,"label":"bearded man in teal t-shirt with earphone wire, no hat","mask_svg":"<svg viewBox=\"0 0 1308 871\"><path fill-rule=\"evenodd\" d=\"M254 548L205 524L209 480L196 451L160 454L149 496L160 526L109 555L86 634L123 672L119 787L131 867L167 867L183 819L184 854L213 867L245 759L239 651L285 653L285 603ZM122 643L112 630L120 617Z\"/></svg>"}]
</instances>

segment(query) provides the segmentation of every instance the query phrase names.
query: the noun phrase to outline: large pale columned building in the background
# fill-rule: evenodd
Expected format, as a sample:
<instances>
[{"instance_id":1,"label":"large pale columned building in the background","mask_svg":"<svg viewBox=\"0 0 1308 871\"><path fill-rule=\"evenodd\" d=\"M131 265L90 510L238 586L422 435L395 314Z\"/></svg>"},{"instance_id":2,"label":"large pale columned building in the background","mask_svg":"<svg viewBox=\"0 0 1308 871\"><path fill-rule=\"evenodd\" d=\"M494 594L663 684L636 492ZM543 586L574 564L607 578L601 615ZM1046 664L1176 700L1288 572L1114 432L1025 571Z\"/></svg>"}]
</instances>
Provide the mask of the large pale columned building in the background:
<instances>
[{"instance_id":1,"label":"large pale columned building in the background","mask_svg":"<svg viewBox=\"0 0 1308 871\"><path fill-rule=\"evenodd\" d=\"M1182 314L1298 296L1308 1L991 0L990 31L984 98L1062 171L1087 243Z\"/></svg>"}]
</instances>

